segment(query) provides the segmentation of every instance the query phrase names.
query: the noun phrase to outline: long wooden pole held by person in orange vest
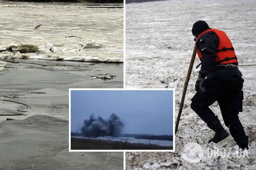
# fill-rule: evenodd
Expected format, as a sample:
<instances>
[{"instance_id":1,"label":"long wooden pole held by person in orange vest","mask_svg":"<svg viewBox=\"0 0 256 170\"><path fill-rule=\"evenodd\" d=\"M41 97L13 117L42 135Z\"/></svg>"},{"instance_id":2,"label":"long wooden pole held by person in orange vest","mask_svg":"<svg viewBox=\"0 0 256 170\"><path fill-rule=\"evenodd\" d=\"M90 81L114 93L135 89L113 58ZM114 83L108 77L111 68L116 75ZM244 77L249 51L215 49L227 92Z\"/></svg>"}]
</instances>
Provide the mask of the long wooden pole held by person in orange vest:
<instances>
[{"instance_id":1,"label":"long wooden pole held by person in orange vest","mask_svg":"<svg viewBox=\"0 0 256 170\"><path fill-rule=\"evenodd\" d=\"M180 116L181 116L181 113L182 113L184 100L185 100L185 96L186 96L186 92L187 92L187 88L188 88L188 82L189 82L190 75L191 75L191 72L192 72L192 68L193 68L193 65L194 65L194 61L195 61L195 58L196 58L196 49L195 49L195 47L196 47L196 44L194 46L194 51L193 51L191 61L190 61L190 65L189 65L189 68L188 68L188 74L187 74L187 77L186 77L186 81L184 83L184 88L183 88L183 93L182 93L182 100L180 102L180 109L179 109L179 113L178 113L177 121L176 121L176 125L175 125L175 134L178 131L178 127L179 127L179 123L180 123Z\"/></svg>"}]
</instances>

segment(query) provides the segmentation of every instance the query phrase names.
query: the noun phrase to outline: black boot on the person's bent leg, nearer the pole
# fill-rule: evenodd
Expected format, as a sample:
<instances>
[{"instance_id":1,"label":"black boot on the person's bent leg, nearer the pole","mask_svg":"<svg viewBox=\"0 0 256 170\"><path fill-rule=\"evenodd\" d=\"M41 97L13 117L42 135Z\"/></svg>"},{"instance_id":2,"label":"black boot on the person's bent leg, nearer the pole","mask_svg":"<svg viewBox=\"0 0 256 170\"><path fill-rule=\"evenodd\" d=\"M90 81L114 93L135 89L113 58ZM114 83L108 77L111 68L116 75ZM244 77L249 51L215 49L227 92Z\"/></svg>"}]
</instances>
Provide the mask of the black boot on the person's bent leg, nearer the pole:
<instances>
[{"instance_id":1,"label":"black boot on the person's bent leg, nearer the pole","mask_svg":"<svg viewBox=\"0 0 256 170\"><path fill-rule=\"evenodd\" d=\"M222 127L217 116L215 116L215 119L207 123L207 125L210 127L210 129L214 130L215 132L214 137L208 141L208 144L211 142L214 142L214 143L221 142L223 139L229 136L227 131Z\"/></svg>"}]
</instances>

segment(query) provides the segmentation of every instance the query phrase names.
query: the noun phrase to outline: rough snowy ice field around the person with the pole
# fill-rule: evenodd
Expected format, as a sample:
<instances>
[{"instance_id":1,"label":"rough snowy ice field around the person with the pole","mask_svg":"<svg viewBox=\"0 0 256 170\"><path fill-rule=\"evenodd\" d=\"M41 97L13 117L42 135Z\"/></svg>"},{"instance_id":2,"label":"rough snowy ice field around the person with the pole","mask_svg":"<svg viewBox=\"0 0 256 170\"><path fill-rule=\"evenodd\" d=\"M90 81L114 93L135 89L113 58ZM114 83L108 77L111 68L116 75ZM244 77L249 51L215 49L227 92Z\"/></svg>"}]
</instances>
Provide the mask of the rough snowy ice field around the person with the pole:
<instances>
[{"instance_id":1,"label":"rough snowy ice field around the person with the pole","mask_svg":"<svg viewBox=\"0 0 256 170\"><path fill-rule=\"evenodd\" d=\"M255 0L167 0L126 4L126 87L175 88L175 110L179 109L194 37L191 29L197 20L205 20L211 28L227 33L235 48L239 65L256 64L256 2ZM188 85L179 131L175 136L176 152L126 152L126 168L141 169L256 169L256 66L239 67L244 82L244 112L240 120L249 136L249 158L208 158L190 164L181 157L189 142L207 148L238 147L229 136L219 144L206 144L214 135L190 109L196 93L194 84L200 63L196 58ZM218 104L211 109L225 127ZM227 127L225 127L227 128Z\"/></svg>"}]
</instances>

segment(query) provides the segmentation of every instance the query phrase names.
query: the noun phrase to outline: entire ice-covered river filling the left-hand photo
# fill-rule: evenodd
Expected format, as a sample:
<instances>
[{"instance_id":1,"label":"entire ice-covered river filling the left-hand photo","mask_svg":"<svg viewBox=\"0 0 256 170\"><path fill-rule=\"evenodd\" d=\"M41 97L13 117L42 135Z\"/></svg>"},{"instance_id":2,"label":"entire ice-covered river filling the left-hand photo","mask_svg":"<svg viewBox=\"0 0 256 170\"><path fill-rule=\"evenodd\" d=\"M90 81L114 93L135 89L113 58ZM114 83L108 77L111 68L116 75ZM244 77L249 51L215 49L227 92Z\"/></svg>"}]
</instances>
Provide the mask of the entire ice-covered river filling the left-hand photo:
<instances>
[{"instance_id":1,"label":"entire ice-covered river filling the left-hand photo","mask_svg":"<svg viewBox=\"0 0 256 170\"><path fill-rule=\"evenodd\" d=\"M0 0L1 170L123 169L68 152L68 89L123 87L122 4L97 5Z\"/></svg>"}]
</instances>

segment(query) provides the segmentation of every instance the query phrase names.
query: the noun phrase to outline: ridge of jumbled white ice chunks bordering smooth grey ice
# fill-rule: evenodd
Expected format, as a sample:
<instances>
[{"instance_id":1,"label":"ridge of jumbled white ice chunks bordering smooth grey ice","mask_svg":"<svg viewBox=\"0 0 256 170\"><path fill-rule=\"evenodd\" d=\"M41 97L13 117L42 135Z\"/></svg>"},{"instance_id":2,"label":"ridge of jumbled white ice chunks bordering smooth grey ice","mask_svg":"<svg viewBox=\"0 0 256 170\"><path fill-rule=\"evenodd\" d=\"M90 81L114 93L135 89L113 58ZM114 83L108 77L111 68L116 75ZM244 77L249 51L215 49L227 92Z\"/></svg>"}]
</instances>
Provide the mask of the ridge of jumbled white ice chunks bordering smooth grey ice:
<instances>
[{"instance_id":1,"label":"ridge of jumbled white ice chunks bordering smooth grey ice","mask_svg":"<svg viewBox=\"0 0 256 170\"><path fill-rule=\"evenodd\" d=\"M118 51L111 47L106 50L107 42L106 40L91 39L85 43L80 42L71 45L55 45L46 40L41 40L37 44L10 43L6 46L0 46L0 58L123 63L123 57L120 57Z\"/></svg>"}]
</instances>

